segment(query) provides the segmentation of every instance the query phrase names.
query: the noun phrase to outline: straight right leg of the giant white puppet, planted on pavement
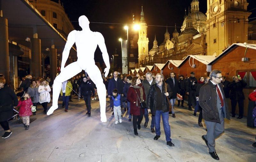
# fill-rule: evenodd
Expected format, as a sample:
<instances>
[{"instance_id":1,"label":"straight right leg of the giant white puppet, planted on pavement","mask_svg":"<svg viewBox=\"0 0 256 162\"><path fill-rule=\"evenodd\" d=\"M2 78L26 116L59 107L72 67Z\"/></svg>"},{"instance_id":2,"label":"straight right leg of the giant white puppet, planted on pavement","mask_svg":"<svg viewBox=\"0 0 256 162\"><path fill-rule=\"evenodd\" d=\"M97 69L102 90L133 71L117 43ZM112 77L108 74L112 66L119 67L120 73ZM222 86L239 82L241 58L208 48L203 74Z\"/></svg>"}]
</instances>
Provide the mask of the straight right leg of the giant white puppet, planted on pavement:
<instances>
[{"instance_id":1,"label":"straight right leg of the giant white puppet, planted on pavement","mask_svg":"<svg viewBox=\"0 0 256 162\"><path fill-rule=\"evenodd\" d=\"M96 65L86 68L86 72L97 87L100 100L100 121L107 122L106 117L106 87L100 74L100 70Z\"/></svg>"}]
</instances>

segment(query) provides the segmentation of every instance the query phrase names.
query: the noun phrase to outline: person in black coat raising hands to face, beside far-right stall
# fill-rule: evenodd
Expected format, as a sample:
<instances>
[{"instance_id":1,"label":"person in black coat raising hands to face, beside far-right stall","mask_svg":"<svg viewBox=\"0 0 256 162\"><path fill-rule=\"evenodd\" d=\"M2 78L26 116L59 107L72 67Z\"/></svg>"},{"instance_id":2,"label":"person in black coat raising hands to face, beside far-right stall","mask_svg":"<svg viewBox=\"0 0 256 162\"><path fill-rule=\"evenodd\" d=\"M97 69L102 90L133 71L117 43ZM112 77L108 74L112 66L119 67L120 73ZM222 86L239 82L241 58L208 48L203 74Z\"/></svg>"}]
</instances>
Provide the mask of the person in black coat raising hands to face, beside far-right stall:
<instances>
[{"instance_id":1,"label":"person in black coat raising hands to face, beside far-right stall","mask_svg":"<svg viewBox=\"0 0 256 162\"><path fill-rule=\"evenodd\" d=\"M244 92L243 88L247 85L241 77L233 76L233 82L228 87L230 88L230 99L232 107L232 117L236 116L236 103L238 102L239 115L237 119L242 119L244 116Z\"/></svg>"}]
</instances>

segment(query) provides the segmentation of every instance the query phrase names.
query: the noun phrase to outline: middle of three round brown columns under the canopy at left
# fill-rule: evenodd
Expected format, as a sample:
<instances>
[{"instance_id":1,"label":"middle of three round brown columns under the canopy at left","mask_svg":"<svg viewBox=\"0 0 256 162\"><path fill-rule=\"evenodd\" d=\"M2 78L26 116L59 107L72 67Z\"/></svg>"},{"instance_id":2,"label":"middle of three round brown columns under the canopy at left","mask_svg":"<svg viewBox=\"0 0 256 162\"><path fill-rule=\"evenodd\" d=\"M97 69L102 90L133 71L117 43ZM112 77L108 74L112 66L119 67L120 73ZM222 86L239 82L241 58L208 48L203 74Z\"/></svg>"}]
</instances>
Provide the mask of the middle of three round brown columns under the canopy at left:
<instances>
[{"instance_id":1,"label":"middle of three round brown columns under the canopy at left","mask_svg":"<svg viewBox=\"0 0 256 162\"><path fill-rule=\"evenodd\" d=\"M30 74L33 77L42 77L41 64L41 40L38 38L31 39L31 69Z\"/></svg>"}]
</instances>

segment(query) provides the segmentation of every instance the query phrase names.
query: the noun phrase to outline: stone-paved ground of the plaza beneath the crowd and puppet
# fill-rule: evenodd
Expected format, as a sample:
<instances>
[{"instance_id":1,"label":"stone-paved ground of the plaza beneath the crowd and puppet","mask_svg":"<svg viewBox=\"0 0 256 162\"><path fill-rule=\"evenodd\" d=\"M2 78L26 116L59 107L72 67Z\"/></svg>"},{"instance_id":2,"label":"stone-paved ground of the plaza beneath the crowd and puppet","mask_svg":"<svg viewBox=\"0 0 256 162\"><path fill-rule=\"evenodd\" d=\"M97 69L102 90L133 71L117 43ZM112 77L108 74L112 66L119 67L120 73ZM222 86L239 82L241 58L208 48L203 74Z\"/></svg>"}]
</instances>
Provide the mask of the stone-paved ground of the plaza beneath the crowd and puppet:
<instances>
[{"instance_id":1,"label":"stone-paved ground of the plaza beneath the crowd and puppet","mask_svg":"<svg viewBox=\"0 0 256 162\"><path fill-rule=\"evenodd\" d=\"M85 115L84 100L73 100L68 113L59 108L50 116L43 114L40 105L36 115L30 117L36 120L29 130L10 121L13 133L0 139L0 161L215 161L201 138L206 134L205 128L198 127L192 111L174 107L176 118L170 115L169 122L175 147L169 147L162 124L161 137L153 139L151 117L148 128L144 128L145 119L142 120L139 136L135 136L132 122L123 110L122 123L114 124L109 108L108 121L101 123L98 99L92 101L91 117ZM0 134L4 134L3 129ZM246 127L246 119L225 120L225 133L216 140L220 161L255 161L255 134L256 129Z\"/></svg>"}]
</instances>

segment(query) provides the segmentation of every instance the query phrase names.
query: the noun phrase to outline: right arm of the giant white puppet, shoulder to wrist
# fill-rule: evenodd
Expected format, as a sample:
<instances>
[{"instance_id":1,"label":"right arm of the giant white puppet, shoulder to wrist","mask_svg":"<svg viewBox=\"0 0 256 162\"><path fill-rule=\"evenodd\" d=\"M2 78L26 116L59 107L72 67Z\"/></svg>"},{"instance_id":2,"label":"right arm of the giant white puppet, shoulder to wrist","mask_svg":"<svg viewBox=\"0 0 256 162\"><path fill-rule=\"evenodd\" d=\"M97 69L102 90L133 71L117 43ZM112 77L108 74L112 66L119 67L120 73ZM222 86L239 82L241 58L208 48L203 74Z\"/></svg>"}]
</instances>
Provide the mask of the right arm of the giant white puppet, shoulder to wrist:
<instances>
[{"instance_id":1,"label":"right arm of the giant white puppet, shoulder to wrist","mask_svg":"<svg viewBox=\"0 0 256 162\"><path fill-rule=\"evenodd\" d=\"M96 36L97 36L97 40L98 40L98 45L99 45L100 51L102 52L103 60L104 60L104 62L106 64L107 68L109 69L110 68L109 56L108 56L108 51L107 51L107 48L106 48L106 45L105 45L104 37L99 32L96 32Z\"/></svg>"}]
</instances>

